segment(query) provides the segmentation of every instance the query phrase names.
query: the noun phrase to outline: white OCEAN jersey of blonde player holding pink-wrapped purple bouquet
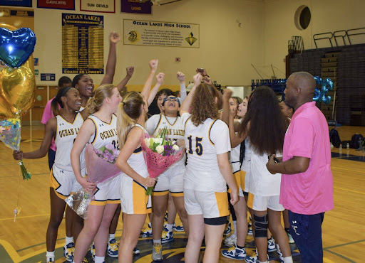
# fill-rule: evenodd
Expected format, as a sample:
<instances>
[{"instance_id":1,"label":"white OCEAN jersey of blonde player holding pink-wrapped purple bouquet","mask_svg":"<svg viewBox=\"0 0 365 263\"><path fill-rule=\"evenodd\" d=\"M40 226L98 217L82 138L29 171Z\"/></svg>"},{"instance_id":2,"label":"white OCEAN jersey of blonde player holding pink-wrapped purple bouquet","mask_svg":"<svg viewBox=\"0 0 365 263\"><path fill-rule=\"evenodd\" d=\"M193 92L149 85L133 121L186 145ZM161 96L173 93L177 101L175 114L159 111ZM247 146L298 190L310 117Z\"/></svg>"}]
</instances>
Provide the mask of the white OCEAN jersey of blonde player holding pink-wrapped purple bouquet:
<instances>
[{"instance_id":1,"label":"white OCEAN jersey of blonde player holding pink-wrapped purple bouquet","mask_svg":"<svg viewBox=\"0 0 365 263\"><path fill-rule=\"evenodd\" d=\"M113 144L115 148L118 148L117 117L115 114L112 114L109 123L103 122L93 114L88 119L91 119L96 127L95 134L89 140L94 149L101 149L108 144Z\"/></svg>"}]
</instances>

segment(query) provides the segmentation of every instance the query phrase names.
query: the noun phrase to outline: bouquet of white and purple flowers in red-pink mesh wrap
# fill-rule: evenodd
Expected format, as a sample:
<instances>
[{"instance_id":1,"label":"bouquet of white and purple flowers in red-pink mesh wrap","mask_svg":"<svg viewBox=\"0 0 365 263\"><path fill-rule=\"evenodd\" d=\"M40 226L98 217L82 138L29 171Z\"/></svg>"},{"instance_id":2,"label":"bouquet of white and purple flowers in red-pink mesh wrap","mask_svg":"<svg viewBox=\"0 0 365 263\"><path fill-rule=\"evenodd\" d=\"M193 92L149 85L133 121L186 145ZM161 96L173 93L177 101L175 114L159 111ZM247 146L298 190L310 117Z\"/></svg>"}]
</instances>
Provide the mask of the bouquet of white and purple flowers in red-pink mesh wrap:
<instances>
[{"instance_id":1,"label":"bouquet of white and purple flowers in red-pink mesh wrap","mask_svg":"<svg viewBox=\"0 0 365 263\"><path fill-rule=\"evenodd\" d=\"M142 136L142 150L148 173L151 178L160 176L170 166L179 161L184 154L185 147L178 146L177 141L166 137L167 129L155 138L148 134ZM152 194L153 187L148 187L146 195Z\"/></svg>"}]
</instances>

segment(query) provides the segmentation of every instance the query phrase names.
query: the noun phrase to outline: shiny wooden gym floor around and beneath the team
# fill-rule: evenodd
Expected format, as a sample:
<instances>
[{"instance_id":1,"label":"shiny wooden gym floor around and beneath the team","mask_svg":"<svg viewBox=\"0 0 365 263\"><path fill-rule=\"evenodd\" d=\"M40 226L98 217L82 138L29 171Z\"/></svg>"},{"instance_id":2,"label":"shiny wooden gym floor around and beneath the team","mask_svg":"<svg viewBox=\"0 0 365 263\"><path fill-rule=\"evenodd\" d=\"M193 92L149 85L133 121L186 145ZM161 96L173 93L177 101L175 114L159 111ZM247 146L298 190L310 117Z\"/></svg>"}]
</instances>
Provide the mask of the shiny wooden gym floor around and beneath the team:
<instances>
[{"instance_id":1,"label":"shiny wooden gym floor around and beneath the team","mask_svg":"<svg viewBox=\"0 0 365 263\"><path fill-rule=\"evenodd\" d=\"M331 127L330 127L331 128ZM337 127L342 140L351 139L356 132L365 135L365 127ZM22 128L23 151L38 149L43 138L43 126ZM364 262L365 247L365 157L354 149L339 153L332 149L334 175L334 210L325 214L323 223L324 262ZM12 151L0 143L0 262L44 262L46 254L46 228L49 219L49 171L47 157L24 160L31 171L30 181L19 177L19 166ZM14 209L20 210L14 222ZM122 223L116 236L121 235ZM63 262L65 237L64 221L58 231L56 262ZM181 262L186 239L183 233L174 233L175 241L163 245L164 262ZM254 251L252 236L247 237L247 254ZM140 239L141 254L135 262L151 262L152 240ZM222 248L225 246L222 245ZM361 248L362 247L362 248ZM252 249L251 249L252 248ZM300 262L298 251L292 245L294 262ZM202 251L204 247L202 247ZM276 262L277 254L270 254ZM106 262L117 259L106 257ZM220 262L235 260L220 257Z\"/></svg>"}]
</instances>

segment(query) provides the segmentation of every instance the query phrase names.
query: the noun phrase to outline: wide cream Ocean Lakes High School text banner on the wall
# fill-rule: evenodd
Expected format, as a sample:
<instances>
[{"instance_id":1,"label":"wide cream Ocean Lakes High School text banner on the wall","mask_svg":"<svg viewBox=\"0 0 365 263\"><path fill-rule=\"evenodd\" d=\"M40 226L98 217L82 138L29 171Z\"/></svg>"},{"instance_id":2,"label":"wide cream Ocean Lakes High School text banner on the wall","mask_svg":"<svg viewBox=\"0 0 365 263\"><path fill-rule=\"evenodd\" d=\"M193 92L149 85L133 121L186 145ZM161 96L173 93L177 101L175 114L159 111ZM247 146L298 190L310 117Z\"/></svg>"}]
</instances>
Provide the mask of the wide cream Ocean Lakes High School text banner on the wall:
<instances>
[{"instance_id":1,"label":"wide cream Ocean Lakes High School text banner on the wall","mask_svg":"<svg viewBox=\"0 0 365 263\"><path fill-rule=\"evenodd\" d=\"M124 19L124 45L199 48L199 24Z\"/></svg>"}]
</instances>

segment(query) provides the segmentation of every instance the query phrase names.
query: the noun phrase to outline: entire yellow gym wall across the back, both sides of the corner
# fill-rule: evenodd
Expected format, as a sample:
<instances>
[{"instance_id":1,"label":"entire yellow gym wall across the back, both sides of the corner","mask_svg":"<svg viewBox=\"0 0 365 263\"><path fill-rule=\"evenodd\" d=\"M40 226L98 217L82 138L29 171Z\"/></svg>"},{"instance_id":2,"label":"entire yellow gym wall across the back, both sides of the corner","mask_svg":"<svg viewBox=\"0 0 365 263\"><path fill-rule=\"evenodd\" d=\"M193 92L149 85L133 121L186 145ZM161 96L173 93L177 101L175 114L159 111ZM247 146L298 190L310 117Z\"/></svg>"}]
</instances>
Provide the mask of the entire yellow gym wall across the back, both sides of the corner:
<instances>
[{"instance_id":1,"label":"entire yellow gym wall across the back, both sides of the corner","mask_svg":"<svg viewBox=\"0 0 365 263\"><path fill-rule=\"evenodd\" d=\"M252 65L264 78L284 77L287 41L302 36L305 48L314 48L312 35L326 31L359 28L364 26L365 1L363 0L183 0L163 6L153 6L153 15L120 14L120 1L115 0L115 14L82 12L76 0L76 11L34 8L34 26L37 36L34 58L39 58L39 73L56 73L61 77L61 14L96 14L104 16L104 58L108 55L108 35L118 31L123 36L123 19L171 21L200 24L200 48L165 48L155 46L123 45L118 43L118 61L114 84L125 76L128 65L135 66L129 87L140 90L148 75L148 60L160 60L158 71L165 73L165 85L175 87L175 75L182 71L187 83L192 80L195 68L207 68L213 80L221 85L250 85L258 79ZM312 21L300 31L294 26L294 14L299 6L309 6ZM36 6L36 0L33 1ZM239 26L239 23L241 24ZM364 41L363 41L364 43ZM181 58L180 63L175 58ZM278 68L278 70L277 70ZM263 74L265 73L265 74ZM73 78L74 75L68 75ZM96 84L101 75L91 75ZM38 85L56 85L41 82ZM137 85L137 86L133 86ZM130 90L130 89L128 89Z\"/></svg>"}]
</instances>

